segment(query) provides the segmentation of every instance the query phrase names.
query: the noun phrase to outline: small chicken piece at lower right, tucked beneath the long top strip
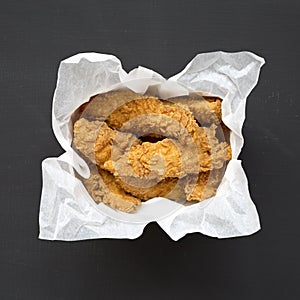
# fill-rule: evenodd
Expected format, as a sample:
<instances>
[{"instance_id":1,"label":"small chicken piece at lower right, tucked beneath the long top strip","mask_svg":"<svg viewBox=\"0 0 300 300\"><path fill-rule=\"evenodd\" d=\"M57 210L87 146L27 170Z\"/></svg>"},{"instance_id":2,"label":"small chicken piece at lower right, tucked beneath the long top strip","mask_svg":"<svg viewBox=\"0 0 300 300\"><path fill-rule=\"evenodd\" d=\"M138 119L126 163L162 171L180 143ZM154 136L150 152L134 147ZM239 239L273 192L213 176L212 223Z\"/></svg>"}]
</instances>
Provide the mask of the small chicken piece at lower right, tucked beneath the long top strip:
<instances>
[{"instance_id":1,"label":"small chicken piece at lower right, tucked beneath the long top strip","mask_svg":"<svg viewBox=\"0 0 300 300\"><path fill-rule=\"evenodd\" d=\"M189 176L185 186L187 201L203 201L215 196L225 169L216 169L208 172L201 172L197 177Z\"/></svg>"}]
</instances>

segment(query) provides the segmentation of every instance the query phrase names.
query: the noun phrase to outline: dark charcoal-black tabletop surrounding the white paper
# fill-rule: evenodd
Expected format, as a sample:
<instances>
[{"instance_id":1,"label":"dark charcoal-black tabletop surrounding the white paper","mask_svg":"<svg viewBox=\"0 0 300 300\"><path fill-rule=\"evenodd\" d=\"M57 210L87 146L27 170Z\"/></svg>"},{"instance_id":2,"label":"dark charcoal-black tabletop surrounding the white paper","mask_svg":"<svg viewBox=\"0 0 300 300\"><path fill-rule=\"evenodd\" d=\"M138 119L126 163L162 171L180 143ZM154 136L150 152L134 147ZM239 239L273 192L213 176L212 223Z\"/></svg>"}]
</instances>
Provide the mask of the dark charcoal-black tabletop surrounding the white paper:
<instances>
[{"instance_id":1,"label":"dark charcoal-black tabletop surrounding the white paper","mask_svg":"<svg viewBox=\"0 0 300 300\"><path fill-rule=\"evenodd\" d=\"M300 299L299 11L296 0L1 3L0 299ZM40 164L62 153L50 123L59 61L113 53L127 71L169 77L214 50L266 59L241 155L262 230L173 242L150 224L134 241L38 240Z\"/></svg>"}]
</instances>

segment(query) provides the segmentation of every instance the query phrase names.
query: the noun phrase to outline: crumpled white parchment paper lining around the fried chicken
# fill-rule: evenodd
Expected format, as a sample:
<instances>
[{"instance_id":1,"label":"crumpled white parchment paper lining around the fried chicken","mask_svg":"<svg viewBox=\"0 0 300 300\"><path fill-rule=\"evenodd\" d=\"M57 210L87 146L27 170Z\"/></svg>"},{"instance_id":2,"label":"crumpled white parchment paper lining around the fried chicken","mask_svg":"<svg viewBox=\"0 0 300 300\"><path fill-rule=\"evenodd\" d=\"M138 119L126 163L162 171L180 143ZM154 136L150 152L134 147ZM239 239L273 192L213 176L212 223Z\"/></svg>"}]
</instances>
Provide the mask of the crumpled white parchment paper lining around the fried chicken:
<instances>
[{"instance_id":1,"label":"crumpled white parchment paper lining around the fried chicken","mask_svg":"<svg viewBox=\"0 0 300 300\"><path fill-rule=\"evenodd\" d=\"M250 52L203 53L183 71L165 79L144 67L126 73L120 60L112 55L80 53L62 61L53 99L52 126L65 153L42 162L39 238L66 241L134 239L154 221L173 240L192 232L229 238L258 231L258 213L238 156L244 143L242 126L246 98L257 84L263 64L263 58ZM91 96L120 88L140 94L153 89L161 99L193 91L223 99L222 120L231 130L232 159L214 197L189 206L153 198L130 214L92 200L75 176L77 172L87 178L90 171L71 147L72 114Z\"/></svg>"}]
</instances>

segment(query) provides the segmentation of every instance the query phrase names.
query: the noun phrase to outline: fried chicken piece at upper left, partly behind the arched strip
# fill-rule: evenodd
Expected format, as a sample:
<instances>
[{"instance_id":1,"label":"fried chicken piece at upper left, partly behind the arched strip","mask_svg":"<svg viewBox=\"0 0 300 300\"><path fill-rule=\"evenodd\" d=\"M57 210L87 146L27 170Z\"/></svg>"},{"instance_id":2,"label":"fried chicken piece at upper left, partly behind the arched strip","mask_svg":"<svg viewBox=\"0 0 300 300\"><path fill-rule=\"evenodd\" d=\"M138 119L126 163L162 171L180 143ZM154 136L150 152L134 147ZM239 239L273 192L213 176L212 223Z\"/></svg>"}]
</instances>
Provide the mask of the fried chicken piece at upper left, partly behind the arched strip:
<instances>
[{"instance_id":1,"label":"fried chicken piece at upper left, partly behind the arched strip","mask_svg":"<svg viewBox=\"0 0 300 300\"><path fill-rule=\"evenodd\" d=\"M140 94L129 89L111 91L92 97L88 103L82 105L79 111L81 111L82 118L105 121L119 106L141 97Z\"/></svg>"}]
</instances>

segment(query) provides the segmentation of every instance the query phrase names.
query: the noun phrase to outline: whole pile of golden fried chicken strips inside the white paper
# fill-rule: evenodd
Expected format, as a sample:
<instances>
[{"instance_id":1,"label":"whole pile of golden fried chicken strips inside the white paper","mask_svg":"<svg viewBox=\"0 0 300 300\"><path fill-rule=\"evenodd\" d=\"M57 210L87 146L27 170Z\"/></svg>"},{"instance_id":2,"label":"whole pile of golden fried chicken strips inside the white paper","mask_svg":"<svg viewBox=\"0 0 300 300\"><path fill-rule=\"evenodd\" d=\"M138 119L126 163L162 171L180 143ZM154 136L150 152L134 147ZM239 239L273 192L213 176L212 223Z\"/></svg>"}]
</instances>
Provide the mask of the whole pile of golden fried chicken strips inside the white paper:
<instances>
[{"instance_id":1,"label":"whole pile of golden fried chicken strips inside the white paper","mask_svg":"<svg viewBox=\"0 0 300 300\"><path fill-rule=\"evenodd\" d=\"M78 109L73 145L93 163L82 180L96 202L132 212L154 197L192 203L216 194L231 159L221 100L169 100L113 91Z\"/></svg>"}]
</instances>

